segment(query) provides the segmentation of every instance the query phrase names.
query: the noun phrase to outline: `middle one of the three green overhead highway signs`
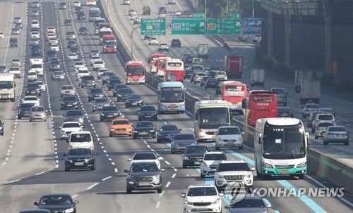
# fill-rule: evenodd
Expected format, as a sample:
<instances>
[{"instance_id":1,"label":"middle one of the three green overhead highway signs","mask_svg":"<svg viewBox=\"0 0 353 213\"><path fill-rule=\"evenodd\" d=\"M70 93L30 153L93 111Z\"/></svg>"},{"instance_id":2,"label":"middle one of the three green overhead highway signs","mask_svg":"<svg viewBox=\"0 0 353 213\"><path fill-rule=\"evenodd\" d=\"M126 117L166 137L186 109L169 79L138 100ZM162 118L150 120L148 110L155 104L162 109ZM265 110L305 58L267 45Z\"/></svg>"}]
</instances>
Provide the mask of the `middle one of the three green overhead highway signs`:
<instances>
[{"instance_id":1,"label":"middle one of the three green overhead highway signs","mask_svg":"<svg viewBox=\"0 0 353 213\"><path fill-rule=\"evenodd\" d=\"M172 34L205 34L204 19L172 19Z\"/></svg>"}]
</instances>

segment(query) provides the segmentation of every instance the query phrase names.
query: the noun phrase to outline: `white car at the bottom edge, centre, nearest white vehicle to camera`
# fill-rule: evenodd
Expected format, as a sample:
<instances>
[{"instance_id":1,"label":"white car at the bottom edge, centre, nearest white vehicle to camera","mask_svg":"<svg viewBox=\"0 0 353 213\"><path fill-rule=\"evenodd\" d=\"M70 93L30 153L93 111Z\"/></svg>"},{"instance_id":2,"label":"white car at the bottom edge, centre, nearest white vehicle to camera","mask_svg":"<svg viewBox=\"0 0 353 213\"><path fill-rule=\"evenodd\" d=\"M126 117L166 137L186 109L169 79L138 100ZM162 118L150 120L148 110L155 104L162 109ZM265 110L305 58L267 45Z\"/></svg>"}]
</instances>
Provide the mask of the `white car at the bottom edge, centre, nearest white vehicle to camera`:
<instances>
[{"instance_id":1,"label":"white car at the bottom edge, centre, nearest white vehicle to camera","mask_svg":"<svg viewBox=\"0 0 353 213\"><path fill-rule=\"evenodd\" d=\"M186 193L180 195L184 198L183 213L187 212L222 212L223 193L219 193L215 185L197 184L189 186Z\"/></svg>"}]
</instances>

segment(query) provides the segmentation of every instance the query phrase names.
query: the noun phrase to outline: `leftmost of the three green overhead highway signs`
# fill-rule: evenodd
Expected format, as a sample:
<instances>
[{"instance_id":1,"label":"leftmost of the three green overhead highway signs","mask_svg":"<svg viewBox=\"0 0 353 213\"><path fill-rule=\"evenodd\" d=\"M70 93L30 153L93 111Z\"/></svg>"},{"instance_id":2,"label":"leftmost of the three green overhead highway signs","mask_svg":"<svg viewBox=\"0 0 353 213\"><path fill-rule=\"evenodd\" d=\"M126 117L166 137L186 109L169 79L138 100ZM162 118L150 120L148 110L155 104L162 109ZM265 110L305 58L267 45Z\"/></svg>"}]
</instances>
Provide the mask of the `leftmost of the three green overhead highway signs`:
<instances>
[{"instance_id":1,"label":"leftmost of the three green overhead highway signs","mask_svg":"<svg viewBox=\"0 0 353 213\"><path fill-rule=\"evenodd\" d=\"M165 18L142 18L141 35L164 35Z\"/></svg>"}]
</instances>

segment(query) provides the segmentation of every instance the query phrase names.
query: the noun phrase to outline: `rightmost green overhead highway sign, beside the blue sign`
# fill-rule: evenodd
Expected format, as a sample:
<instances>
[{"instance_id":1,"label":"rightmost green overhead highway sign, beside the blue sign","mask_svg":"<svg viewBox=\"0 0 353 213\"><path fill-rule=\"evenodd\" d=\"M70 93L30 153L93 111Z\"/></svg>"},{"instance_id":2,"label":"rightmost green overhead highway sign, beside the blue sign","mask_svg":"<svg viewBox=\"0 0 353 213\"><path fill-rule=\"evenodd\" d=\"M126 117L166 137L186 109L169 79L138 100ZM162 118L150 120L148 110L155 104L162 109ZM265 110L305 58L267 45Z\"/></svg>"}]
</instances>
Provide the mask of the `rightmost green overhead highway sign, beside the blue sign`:
<instances>
[{"instance_id":1,"label":"rightmost green overhead highway sign, beside the blue sign","mask_svg":"<svg viewBox=\"0 0 353 213\"><path fill-rule=\"evenodd\" d=\"M208 19L207 34L241 34L241 19Z\"/></svg>"}]
</instances>

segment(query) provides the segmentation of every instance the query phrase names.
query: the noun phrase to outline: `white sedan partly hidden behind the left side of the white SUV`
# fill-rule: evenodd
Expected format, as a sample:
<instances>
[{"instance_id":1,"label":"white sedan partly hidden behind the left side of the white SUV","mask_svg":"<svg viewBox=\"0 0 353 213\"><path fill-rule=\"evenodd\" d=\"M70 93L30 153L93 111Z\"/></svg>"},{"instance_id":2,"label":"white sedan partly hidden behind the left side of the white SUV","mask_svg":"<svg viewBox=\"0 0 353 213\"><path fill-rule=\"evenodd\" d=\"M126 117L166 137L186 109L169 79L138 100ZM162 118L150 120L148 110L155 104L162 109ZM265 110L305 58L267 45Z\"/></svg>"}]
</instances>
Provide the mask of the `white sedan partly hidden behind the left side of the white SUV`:
<instances>
[{"instance_id":1,"label":"white sedan partly hidden behind the left side of the white SUV","mask_svg":"<svg viewBox=\"0 0 353 213\"><path fill-rule=\"evenodd\" d=\"M227 160L227 155L222 151L205 153L201 162L200 176L204 178L206 175L215 174L217 166L222 160Z\"/></svg>"}]
</instances>

